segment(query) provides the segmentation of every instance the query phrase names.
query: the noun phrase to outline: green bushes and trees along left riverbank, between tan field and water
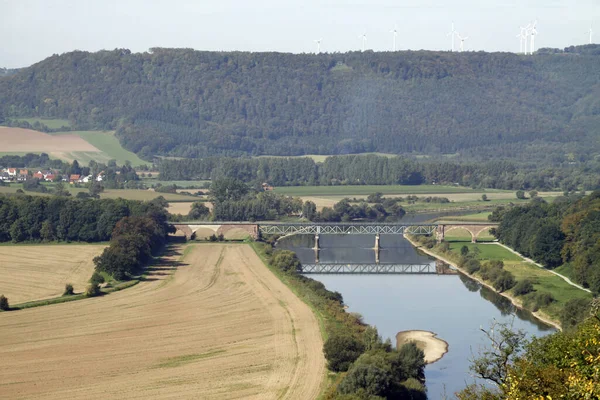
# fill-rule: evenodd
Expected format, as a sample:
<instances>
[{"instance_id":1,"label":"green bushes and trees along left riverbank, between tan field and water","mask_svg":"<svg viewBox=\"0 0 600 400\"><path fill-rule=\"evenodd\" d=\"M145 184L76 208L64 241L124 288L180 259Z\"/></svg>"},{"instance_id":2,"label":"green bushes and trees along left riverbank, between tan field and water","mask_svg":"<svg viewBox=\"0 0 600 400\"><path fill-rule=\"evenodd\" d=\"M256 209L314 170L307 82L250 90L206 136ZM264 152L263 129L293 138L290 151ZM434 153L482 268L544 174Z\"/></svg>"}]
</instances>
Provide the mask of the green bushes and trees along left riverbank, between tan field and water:
<instances>
[{"instance_id":1,"label":"green bushes and trees along left riverbank, between tan field and water","mask_svg":"<svg viewBox=\"0 0 600 400\"><path fill-rule=\"evenodd\" d=\"M271 270L311 306L322 324L323 351L330 375L325 399L426 399L423 351L414 343L399 349L383 342L377 329L365 325L357 314L347 313L342 295L298 273L295 253L274 251L269 243L253 244ZM377 396L377 397L376 397Z\"/></svg>"}]
</instances>

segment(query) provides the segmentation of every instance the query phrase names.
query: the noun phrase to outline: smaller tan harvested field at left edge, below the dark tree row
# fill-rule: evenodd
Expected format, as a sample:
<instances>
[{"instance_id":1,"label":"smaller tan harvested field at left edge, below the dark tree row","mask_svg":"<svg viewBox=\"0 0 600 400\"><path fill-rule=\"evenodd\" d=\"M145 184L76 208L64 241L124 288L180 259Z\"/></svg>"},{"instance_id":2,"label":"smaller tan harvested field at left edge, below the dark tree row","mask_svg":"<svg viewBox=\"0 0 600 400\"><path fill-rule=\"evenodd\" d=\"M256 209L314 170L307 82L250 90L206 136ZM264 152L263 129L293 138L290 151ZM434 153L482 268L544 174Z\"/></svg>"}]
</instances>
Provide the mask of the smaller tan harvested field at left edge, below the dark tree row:
<instances>
[{"instance_id":1,"label":"smaller tan harvested field at left edge, below the dark tree row","mask_svg":"<svg viewBox=\"0 0 600 400\"><path fill-rule=\"evenodd\" d=\"M94 273L92 260L104 247L0 246L0 294L14 305L60 296L66 283L73 284L75 292L83 292Z\"/></svg>"}]
</instances>

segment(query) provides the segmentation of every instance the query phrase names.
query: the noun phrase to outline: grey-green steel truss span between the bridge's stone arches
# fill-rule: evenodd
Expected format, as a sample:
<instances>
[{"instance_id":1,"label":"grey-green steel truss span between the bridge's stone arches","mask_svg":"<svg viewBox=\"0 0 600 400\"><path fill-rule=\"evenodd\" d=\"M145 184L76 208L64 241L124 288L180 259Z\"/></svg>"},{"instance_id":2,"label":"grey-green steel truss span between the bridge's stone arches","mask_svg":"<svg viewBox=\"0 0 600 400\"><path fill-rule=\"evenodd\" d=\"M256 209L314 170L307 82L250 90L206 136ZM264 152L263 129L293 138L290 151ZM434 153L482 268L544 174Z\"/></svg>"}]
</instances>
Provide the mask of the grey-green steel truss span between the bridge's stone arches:
<instances>
[{"instance_id":1,"label":"grey-green steel truss span between the bridge's stone arches","mask_svg":"<svg viewBox=\"0 0 600 400\"><path fill-rule=\"evenodd\" d=\"M260 223L258 229L265 235L431 235L438 224L398 223Z\"/></svg>"}]
</instances>

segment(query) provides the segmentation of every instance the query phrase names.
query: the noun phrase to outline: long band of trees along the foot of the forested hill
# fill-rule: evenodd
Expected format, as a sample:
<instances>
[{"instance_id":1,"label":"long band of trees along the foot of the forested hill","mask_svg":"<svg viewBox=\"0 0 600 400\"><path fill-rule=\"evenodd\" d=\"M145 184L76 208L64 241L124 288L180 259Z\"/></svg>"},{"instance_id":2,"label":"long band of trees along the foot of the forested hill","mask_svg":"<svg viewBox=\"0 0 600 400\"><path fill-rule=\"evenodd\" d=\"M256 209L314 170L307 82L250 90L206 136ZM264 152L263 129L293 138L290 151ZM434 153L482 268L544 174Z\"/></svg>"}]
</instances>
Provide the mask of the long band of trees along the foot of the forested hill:
<instances>
[{"instance_id":1,"label":"long band of trees along the foot of the forested hill","mask_svg":"<svg viewBox=\"0 0 600 400\"><path fill-rule=\"evenodd\" d=\"M161 160L160 179L234 178L259 186L459 184L506 190L595 190L600 188L600 160L585 166L525 165L507 161L477 163L419 161L407 157L349 155L310 158L229 158Z\"/></svg>"}]
</instances>

